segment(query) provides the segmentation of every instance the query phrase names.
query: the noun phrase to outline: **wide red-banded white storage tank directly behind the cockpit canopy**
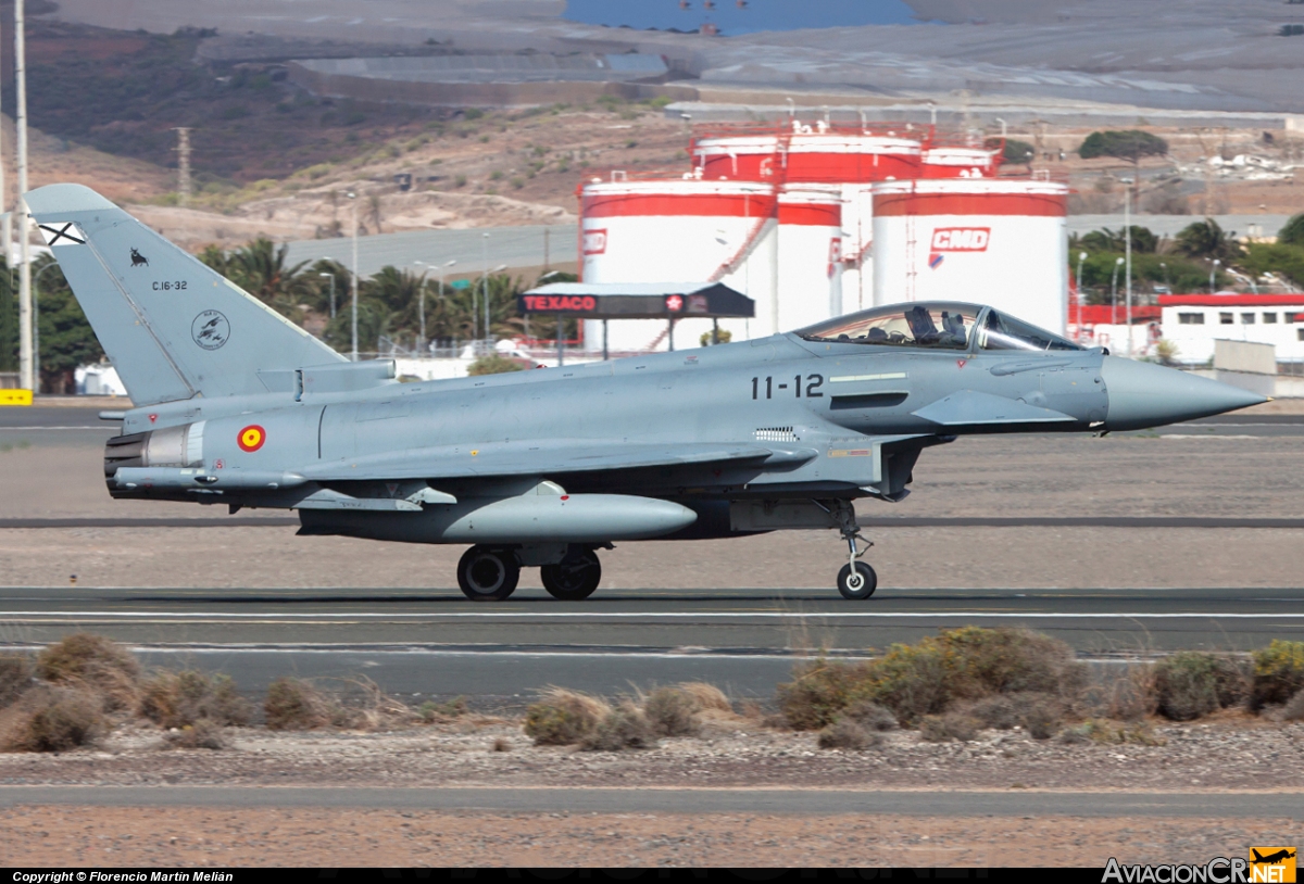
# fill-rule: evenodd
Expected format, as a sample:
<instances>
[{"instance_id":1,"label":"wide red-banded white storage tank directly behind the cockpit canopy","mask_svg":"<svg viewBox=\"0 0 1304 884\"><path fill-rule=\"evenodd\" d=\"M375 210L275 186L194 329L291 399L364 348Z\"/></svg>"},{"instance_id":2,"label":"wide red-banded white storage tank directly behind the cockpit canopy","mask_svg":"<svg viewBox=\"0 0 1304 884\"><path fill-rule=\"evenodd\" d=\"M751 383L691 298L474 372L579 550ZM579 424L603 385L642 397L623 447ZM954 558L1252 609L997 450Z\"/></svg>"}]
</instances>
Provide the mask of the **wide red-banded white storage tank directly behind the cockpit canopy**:
<instances>
[{"instance_id":1,"label":"wide red-banded white storage tank directly behind the cockpit canopy","mask_svg":"<svg viewBox=\"0 0 1304 884\"><path fill-rule=\"evenodd\" d=\"M1028 179L874 188L874 304L990 304L1064 334L1068 185Z\"/></svg>"}]
</instances>

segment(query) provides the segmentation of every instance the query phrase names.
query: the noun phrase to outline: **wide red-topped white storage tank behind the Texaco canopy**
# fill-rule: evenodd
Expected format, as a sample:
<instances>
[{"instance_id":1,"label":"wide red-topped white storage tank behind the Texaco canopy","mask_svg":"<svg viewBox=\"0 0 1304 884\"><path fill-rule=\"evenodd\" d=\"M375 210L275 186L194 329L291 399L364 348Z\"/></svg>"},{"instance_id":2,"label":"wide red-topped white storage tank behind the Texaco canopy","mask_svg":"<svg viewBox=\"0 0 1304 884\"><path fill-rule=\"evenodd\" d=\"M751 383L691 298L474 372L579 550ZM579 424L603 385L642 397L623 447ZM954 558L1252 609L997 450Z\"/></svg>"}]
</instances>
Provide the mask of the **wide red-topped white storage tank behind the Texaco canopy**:
<instances>
[{"instance_id":1,"label":"wide red-topped white storage tank behind the Texaco canopy","mask_svg":"<svg viewBox=\"0 0 1304 884\"><path fill-rule=\"evenodd\" d=\"M754 319L722 319L734 340L777 327L776 190L755 181L687 179L591 181L580 190L585 283L722 282L756 302ZM675 323L677 349L696 347L709 319ZM609 323L612 352L666 349L666 323ZM602 323L585 321L584 347L602 347Z\"/></svg>"}]
</instances>

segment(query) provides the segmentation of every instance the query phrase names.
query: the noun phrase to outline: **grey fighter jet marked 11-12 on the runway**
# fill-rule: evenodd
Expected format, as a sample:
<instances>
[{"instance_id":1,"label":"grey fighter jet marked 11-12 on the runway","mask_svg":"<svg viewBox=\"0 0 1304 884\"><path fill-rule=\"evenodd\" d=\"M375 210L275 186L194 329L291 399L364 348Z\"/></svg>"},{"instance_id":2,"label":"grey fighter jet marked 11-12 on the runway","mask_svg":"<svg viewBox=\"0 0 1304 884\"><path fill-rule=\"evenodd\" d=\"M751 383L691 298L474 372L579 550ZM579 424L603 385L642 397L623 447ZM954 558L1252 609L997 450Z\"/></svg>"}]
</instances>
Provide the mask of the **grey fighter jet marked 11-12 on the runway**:
<instances>
[{"instance_id":1,"label":"grey fighter jet marked 11-12 on the runway","mask_svg":"<svg viewBox=\"0 0 1304 884\"><path fill-rule=\"evenodd\" d=\"M874 595L857 503L977 433L1106 433L1260 402L1085 349L1001 310L910 302L735 344L399 383L351 362L72 184L29 210L132 396L107 412L115 498L296 510L301 535L464 544L458 585L557 598L627 540L835 529L836 585ZM649 248L655 248L649 244Z\"/></svg>"}]
</instances>

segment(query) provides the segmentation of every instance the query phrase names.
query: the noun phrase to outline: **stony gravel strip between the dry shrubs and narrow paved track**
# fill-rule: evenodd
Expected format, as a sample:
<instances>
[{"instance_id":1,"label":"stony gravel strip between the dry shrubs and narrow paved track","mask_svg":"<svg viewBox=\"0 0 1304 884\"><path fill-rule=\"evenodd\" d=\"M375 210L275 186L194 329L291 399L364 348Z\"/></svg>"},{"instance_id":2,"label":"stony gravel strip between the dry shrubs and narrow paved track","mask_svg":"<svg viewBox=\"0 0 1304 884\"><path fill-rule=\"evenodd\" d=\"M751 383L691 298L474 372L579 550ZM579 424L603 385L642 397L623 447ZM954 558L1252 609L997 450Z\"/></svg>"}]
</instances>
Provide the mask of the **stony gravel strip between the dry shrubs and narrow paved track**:
<instances>
[{"instance_id":1,"label":"stony gravel strip between the dry shrubs and narrow paved track","mask_svg":"<svg viewBox=\"0 0 1304 884\"><path fill-rule=\"evenodd\" d=\"M926 743L898 730L866 751L720 715L649 751L535 747L519 722L467 716L391 733L232 729L226 751L160 750L126 726L95 750L0 755L0 785L799 786L842 789L1304 790L1304 725L1240 713L1153 729L1162 746L1065 744L1022 731ZM507 751L494 751L494 741Z\"/></svg>"}]
</instances>

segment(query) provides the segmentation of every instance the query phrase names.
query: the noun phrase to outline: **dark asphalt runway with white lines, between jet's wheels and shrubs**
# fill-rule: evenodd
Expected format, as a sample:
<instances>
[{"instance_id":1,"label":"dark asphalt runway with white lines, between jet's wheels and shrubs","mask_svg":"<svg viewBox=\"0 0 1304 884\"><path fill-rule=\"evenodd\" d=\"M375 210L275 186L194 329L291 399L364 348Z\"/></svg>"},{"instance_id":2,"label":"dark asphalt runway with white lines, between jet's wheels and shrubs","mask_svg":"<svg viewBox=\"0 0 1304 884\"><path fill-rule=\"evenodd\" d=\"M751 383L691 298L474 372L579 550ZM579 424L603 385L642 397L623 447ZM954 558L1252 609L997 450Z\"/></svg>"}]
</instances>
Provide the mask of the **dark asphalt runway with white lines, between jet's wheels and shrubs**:
<instances>
[{"instance_id":1,"label":"dark asphalt runway with white lines, between jet's wheels and shrubs","mask_svg":"<svg viewBox=\"0 0 1304 884\"><path fill-rule=\"evenodd\" d=\"M389 691L515 705L549 685L599 694L708 681L768 698L803 656L858 657L966 625L1021 626L1102 665L1178 649L1304 639L1304 589L610 591L497 604L456 591L0 588L0 639L35 645L93 630L149 665L274 678L374 679Z\"/></svg>"}]
</instances>

